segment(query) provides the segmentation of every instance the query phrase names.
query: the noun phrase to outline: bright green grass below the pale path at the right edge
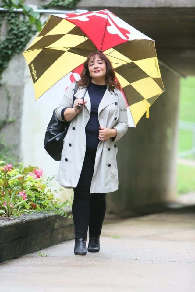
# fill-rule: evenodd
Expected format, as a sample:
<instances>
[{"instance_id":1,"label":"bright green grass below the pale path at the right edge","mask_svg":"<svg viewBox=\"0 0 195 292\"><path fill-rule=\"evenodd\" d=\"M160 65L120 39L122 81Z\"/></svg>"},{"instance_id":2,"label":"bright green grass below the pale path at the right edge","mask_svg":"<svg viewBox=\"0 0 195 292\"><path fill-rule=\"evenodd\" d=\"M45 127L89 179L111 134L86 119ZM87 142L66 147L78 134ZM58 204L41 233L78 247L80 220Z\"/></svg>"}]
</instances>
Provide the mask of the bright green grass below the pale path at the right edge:
<instances>
[{"instance_id":1,"label":"bright green grass below the pale path at the right edge","mask_svg":"<svg viewBox=\"0 0 195 292\"><path fill-rule=\"evenodd\" d=\"M178 164L177 166L177 194L184 194L195 190L195 167Z\"/></svg>"}]
</instances>

